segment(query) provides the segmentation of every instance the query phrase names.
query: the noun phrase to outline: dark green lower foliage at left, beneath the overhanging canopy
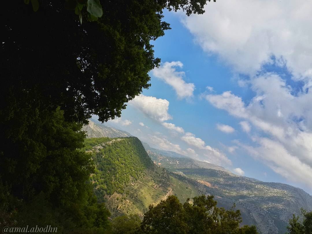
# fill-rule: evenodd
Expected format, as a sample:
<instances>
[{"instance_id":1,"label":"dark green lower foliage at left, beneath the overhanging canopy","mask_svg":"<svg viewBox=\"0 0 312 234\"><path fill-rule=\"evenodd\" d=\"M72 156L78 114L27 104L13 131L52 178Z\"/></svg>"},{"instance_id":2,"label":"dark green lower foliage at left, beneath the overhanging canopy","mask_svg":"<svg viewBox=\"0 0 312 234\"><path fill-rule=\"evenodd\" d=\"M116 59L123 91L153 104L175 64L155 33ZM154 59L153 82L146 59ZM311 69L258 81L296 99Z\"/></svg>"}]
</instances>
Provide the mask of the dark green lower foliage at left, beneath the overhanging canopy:
<instances>
[{"instance_id":1,"label":"dark green lower foliage at left, beneath the overhanging canopy","mask_svg":"<svg viewBox=\"0 0 312 234\"><path fill-rule=\"evenodd\" d=\"M86 183L94 171L90 154L77 149L84 143L82 124L65 121L60 108L26 110L2 126L0 224L55 224L65 233L109 228L110 213ZM7 129L15 128L11 136Z\"/></svg>"}]
</instances>

